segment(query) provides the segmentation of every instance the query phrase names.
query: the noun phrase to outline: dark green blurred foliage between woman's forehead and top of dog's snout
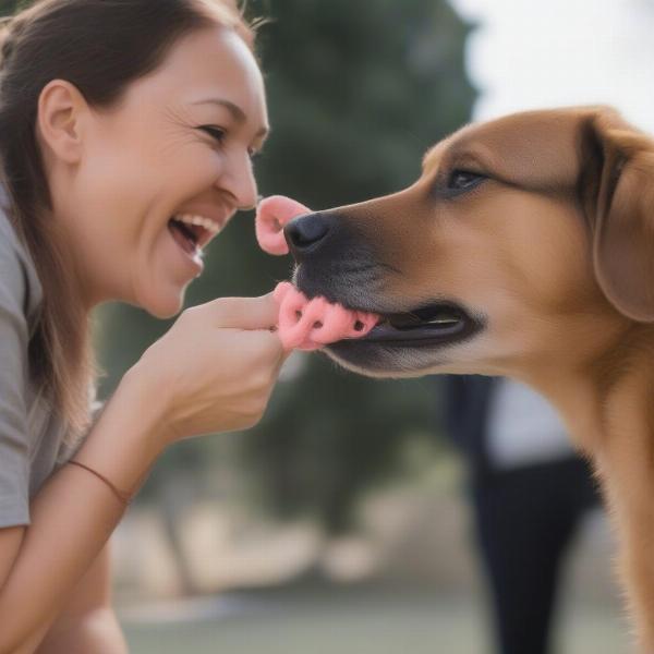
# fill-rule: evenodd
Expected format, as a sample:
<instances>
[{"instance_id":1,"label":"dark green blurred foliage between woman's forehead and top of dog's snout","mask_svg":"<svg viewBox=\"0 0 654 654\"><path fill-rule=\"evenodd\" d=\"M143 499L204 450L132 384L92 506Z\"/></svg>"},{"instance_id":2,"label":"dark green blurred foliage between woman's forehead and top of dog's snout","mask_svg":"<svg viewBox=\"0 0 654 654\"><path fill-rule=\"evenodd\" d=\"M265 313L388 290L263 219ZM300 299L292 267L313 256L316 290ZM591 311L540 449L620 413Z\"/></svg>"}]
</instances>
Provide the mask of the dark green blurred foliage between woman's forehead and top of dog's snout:
<instances>
[{"instance_id":1,"label":"dark green blurred foliage between woman's forehead and top of dog's snout","mask_svg":"<svg viewBox=\"0 0 654 654\"><path fill-rule=\"evenodd\" d=\"M259 179L312 207L396 190L467 121L468 27L443 0L268 0L262 31L274 140Z\"/></svg>"}]
</instances>

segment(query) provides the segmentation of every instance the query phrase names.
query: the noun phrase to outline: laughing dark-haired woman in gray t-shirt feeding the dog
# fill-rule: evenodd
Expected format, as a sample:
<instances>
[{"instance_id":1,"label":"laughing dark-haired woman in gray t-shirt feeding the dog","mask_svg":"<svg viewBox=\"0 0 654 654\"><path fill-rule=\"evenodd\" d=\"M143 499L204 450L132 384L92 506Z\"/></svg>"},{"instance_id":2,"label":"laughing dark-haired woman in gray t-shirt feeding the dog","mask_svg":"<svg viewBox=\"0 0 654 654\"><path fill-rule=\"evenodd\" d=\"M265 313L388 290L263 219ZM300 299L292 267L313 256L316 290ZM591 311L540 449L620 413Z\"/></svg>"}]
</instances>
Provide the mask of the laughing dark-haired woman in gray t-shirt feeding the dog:
<instances>
[{"instance_id":1,"label":"laughing dark-haired woman in gray t-shirt feeding the dog","mask_svg":"<svg viewBox=\"0 0 654 654\"><path fill-rule=\"evenodd\" d=\"M183 312L87 425L92 308L174 315L202 247L255 203L252 47L219 0L41 0L5 25L2 653L124 652L106 543L129 499L169 445L265 409L283 360L269 295Z\"/></svg>"}]
</instances>

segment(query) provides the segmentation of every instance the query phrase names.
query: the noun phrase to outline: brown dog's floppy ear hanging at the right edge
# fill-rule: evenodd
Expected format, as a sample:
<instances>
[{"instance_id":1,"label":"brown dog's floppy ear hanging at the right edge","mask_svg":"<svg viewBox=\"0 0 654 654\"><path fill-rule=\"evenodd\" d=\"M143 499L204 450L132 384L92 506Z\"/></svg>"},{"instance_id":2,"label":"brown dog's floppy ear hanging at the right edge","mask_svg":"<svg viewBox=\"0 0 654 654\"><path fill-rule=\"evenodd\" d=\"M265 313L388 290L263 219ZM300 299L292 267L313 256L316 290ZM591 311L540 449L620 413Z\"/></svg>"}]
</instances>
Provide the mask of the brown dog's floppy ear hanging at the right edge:
<instances>
[{"instance_id":1,"label":"brown dog's floppy ear hanging at the right edge","mask_svg":"<svg viewBox=\"0 0 654 654\"><path fill-rule=\"evenodd\" d=\"M593 112L583 131L580 190L596 279L620 313L653 323L654 141L611 109Z\"/></svg>"}]
</instances>

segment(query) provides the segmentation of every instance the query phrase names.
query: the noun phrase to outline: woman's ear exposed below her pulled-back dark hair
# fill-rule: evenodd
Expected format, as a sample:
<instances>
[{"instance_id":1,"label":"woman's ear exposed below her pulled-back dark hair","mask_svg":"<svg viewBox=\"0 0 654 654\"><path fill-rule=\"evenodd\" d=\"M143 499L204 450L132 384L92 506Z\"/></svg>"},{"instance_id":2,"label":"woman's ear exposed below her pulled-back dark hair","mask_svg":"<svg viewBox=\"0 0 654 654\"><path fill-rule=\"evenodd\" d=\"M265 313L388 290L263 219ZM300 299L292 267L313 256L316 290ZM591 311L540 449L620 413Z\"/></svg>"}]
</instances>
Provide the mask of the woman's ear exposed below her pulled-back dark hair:
<instances>
[{"instance_id":1,"label":"woman's ear exposed below her pulled-back dark hair","mask_svg":"<svg viewBox=\"0 0 654 654\"><path fill-rule=\"evenodd\" d=\"M82 155L83 118L88 110L84 96L70 82L52 80L38 98L37 129L50 157L76 164Z\"/></svg>"}]
</instances>

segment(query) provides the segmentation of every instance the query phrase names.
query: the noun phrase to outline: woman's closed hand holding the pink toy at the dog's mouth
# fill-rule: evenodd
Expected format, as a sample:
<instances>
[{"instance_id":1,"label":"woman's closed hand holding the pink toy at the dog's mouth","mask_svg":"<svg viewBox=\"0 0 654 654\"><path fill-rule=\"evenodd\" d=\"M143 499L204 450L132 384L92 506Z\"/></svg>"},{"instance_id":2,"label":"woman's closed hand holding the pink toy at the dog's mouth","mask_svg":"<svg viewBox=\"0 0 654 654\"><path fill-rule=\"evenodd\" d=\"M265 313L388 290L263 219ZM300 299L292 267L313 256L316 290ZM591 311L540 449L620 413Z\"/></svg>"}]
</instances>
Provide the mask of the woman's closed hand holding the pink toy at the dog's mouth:
<instances>
[{"instance_id":1,"label":"woman's closed hand holding the pink toy at the dog's mouth","mask_svg":"<svg viewBox=\"0 0 654 654\"><path fill-rule=\"evenodd\" d=\"M287 355L278 311L271 293L207 302L146 350L128 375L157 403L167 444L259 421Z\"/></svg>"}]
</instances>

